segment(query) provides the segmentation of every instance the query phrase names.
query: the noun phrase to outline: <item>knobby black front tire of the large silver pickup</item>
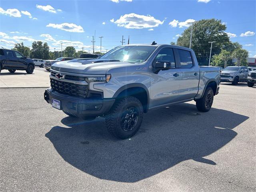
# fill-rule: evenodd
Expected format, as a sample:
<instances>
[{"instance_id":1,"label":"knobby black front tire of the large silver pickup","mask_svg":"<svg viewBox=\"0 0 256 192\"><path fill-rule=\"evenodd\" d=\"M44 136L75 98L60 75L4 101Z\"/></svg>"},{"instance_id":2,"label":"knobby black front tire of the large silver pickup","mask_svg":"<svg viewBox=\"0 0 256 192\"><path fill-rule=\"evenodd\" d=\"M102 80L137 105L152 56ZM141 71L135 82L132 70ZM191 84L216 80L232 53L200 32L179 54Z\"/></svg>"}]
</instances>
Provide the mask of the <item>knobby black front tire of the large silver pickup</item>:
<instances>
[{"instance_id":1,"label":"knobby black front tire of the large silver pickup","mask_svg":"<svg viewBox=\"0 0 256 192\"><path fill-rule=\"evenodd\" d=\"M122 127L121 121L122 121L122 119L126 118L126 117L124 117L124 114L130 108L134 108L134 110L136 111L135 116L138 117L138 119L136 121L133 121L132 124L135 123L135 125L131 130L124 130L124 128L126 128L126 126ZM133 112L134 112L134 110L133 110ZM127 116L127 114L125 116ZM133 113L133 114L135 114L135 113ZM132 117L134 116L133 114L132 114ZM130 138L130 137L134 136L134 134L136 134L136 132L140 128L142 119L143 119L143 106L142 106L140 100L138 100L137 98L132 97L132 96L127 96L120 100L116 100L116 102L112 106L111 110L108 112L108 114L106 114L105 123L106 123L106 128L110 134L112 134L116 138L126 139L126 138ZM129 121L129 119L128 119L128 121ZM128 126L130 126L130 122L128 123Z\"/></svg>"}]
</instances>

